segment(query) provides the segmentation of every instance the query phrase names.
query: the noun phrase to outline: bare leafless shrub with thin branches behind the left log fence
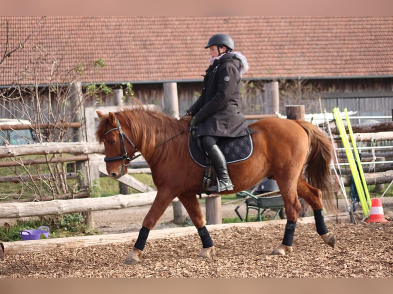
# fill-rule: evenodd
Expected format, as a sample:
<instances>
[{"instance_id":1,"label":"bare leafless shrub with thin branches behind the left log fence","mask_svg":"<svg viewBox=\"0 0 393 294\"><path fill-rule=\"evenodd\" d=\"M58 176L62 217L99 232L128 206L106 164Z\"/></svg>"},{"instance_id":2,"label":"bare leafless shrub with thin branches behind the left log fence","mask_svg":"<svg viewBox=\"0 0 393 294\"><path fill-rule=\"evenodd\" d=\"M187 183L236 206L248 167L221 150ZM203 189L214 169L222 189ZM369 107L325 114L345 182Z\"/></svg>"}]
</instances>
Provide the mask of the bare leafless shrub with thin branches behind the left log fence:
<instances>
[{"instance_id":1,"label":"bare leafless shrub with thin branches behind the left log fence","mask_svg":"<svg viewBox=\"0 0 393 294\"><path fill-rule=\"evenodd\" d=\"M15 48L11 48L8 27L4 54L0 64L6 58L12 58L12 53L24 48L26 58L22 70L14 70L14 81L7 89L0 90L0 106L7 118L26 119L34 125L33 131L37 142L73 141L74 132L71 122L81 112L85 103L95 104L92 99L98 99L100 93L110 94L112 91L104 84L87 85L81 99L75 103L72 85L78 82L85 73L105 67L105 60L80 62L73 68L62 67L64 56L55 56L40 45L26 46L27 40L36 33L41 21L31 33ZM6 22L6 25L7 22ZM3 70L5 70L3 68ZM24 81L33 81L26 85ZM44 81L44 83L43 83ZM44 86L43 86L44 84ZM46 125L42 128L42 125ZM0 133L1 135L1 133ZM67 164L51 162L55 157L63 155L45 155L45 164L25 164L26 157L18 156L8 159L11 163L2 175L12 175L17 178L17 191L7 192L0 199L30 198L32 200L48 200L74 197L81 192L78 181L67 180ZM31 158L29 158L31 159ZM34 158L35 159L35 158ZM6 161L2 159L2 161ZM77 174L77 177L84 175ZM91 187L90 187L91 188ZM91 191L90 191L91 192Z\"/></svg>"}]
</instances>

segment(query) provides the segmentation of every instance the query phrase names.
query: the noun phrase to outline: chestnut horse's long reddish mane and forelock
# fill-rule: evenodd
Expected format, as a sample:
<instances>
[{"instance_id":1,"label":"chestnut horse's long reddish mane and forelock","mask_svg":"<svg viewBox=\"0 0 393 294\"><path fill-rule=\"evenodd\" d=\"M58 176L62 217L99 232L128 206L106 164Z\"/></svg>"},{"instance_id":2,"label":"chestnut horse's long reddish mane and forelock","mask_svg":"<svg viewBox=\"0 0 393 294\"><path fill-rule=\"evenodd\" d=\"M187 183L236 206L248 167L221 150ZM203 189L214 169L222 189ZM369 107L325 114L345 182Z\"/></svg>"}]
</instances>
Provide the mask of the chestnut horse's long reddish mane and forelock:
<instances>
[{"instance_id":1,"label":"chestnut horse's long reddish mane and forelock","mask_svg":"<svg viewBox=\"0 0 393 294\"><path fill-rule=\"evenodd\" d=\"M131 140L140 142L140 151L145 159L170 158L184 156L188 150L189 116L179 120L162 113L157 109L148 108L142 104L125 107L116 112L123 130L131 130ZM100 121L97 128L97 138L102 142L107 118Z\"/></svg>"}]
</instances>

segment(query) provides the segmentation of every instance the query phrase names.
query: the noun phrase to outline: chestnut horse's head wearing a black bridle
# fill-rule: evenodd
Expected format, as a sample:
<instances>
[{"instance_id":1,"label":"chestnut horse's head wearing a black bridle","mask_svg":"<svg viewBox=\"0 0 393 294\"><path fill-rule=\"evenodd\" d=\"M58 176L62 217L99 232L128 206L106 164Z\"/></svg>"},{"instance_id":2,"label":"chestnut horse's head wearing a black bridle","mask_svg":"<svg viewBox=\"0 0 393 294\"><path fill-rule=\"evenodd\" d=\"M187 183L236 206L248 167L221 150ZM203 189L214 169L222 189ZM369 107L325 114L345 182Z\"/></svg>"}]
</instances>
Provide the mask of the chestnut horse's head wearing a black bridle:
<instances>
[{"instance_id":1,"label":"chestnut horse's head wearing a black bridle","mask_svg":"<svg viewBox=\"0 0 393 294\"><path fill-rule=\"evenodd\" d=\"M108 175L115 179L120 178L127 174L127 166L135 158L136 146L123 130L119 115L113 112L104 115L100 111L97 111L97 115L100 118L100 123L96 136L100 143L104 143L104 161Z\"/></svg>"}]
</instances>

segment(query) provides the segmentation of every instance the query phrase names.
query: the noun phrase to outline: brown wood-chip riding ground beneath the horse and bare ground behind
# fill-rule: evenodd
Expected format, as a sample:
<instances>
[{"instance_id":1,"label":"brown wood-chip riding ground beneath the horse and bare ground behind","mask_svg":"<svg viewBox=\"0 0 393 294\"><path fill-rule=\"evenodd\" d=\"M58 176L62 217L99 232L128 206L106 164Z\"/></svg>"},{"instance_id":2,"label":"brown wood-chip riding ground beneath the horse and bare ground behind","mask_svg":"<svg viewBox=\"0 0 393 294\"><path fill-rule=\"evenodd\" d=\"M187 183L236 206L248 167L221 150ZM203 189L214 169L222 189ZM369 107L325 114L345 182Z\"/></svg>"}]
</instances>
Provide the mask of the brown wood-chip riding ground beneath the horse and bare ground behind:
<instances>
[{"instance_id":1,"label":"brown wood-chip riding ground beneath the horse and bare ground behind","mask_svg":"<svg viewBox=\"0 0 393 294\"><path fill-rule=\"evenodd\" d=\"M393 199L384 199L386 223L351 223L348 218L328 221L337 236L334 248L318 236L314 223L297 225L293 248L286 256L271 256L281 243L284 225L211 229L216 253L211 259L198 258L201 240L195 234L148 239L140 264L124 265L131 244L54 249L6 255L0 260L0 278L26 277L393 277ZM223 205L223 217L234 217L234 206ZM94 213L96 227L108 233L139 230L146 207ZM244 213L244 212L243 212ZM359 216L357 216L359 218ZM155 229L168 227L172 209ZM166 223L168 222L168 223ZM172 224L173 225L173 224ZM160 227L161 226L161 227ZM165 229L162 230L165 232Z\"/></svg>"}]
</instances>

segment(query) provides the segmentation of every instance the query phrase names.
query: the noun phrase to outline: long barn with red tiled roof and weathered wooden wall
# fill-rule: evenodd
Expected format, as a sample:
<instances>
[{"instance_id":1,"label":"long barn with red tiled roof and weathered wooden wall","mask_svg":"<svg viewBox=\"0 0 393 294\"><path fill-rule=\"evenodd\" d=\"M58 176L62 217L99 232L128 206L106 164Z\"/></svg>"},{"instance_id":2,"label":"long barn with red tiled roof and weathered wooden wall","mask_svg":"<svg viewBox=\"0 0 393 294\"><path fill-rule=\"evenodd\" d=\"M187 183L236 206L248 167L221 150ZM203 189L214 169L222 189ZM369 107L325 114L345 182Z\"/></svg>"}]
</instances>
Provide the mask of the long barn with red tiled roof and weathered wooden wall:
<instances>
[{"instance_id":1,"label":"long barn with red tiled roof and weathered wooden wall","mask_svg":"<svg viewBox=\"0 0 393 294\"><path fill-rule=\"evenodd\" d=\"M2 117L15 86L48 96L76 80L85 93L92 83L132 85L134 97L161 107L163 84L175 82L183 114L201 93L204 46L215 33L231 35L248 59L245 114L265 113L271 81L279 82L280 113L287 104L363 116L393 109L393 17L3 17L0 30ZM111 105L113 94L89 103Z\"/></svg>"}]
</instances>

